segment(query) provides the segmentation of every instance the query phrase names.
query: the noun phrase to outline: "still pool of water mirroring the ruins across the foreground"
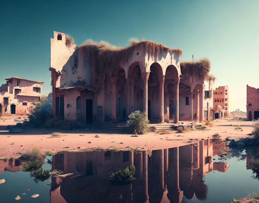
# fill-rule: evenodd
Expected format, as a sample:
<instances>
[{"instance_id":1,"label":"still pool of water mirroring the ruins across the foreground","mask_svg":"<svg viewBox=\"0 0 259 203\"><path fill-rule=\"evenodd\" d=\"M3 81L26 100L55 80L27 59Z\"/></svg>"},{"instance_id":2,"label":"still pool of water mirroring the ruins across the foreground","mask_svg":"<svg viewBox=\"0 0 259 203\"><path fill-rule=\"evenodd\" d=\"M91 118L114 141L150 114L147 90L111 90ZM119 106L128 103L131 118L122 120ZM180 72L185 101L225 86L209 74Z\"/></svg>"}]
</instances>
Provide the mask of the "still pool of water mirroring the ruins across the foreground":
<instances>
[{"instance_id":1,"label":"still pool of water mirroring the ruins across the foreground","mask_svg":"<svg viewBox=\"0 0 259 203\"><path fill-rule=\"evenodd\" d=\"M229 203L259 190L258 155L208 139L153 151L61 153L39 159L40 169L29 172L22 171L26 161L0 160L0 202ZM50 178L39 177L44 170Z\"/></svg>"}]
</instances>

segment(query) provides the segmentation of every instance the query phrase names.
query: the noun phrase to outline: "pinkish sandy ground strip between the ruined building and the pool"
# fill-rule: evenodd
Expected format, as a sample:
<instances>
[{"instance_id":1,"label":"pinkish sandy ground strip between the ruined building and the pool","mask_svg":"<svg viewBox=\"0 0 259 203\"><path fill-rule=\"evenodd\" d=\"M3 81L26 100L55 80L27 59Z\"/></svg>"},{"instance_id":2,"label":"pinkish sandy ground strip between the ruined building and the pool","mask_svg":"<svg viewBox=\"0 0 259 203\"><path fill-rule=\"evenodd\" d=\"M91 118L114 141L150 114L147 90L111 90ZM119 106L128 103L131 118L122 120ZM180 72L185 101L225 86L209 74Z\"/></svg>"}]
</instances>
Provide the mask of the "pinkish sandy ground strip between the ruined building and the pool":
<instances>
[{"instance_id":1,"label":"pinkish sandy ground strip between the ruined building and the pool","mask_svg":"<svg viewBox=\"0 0 259 203\"><path fill-rule=\"evenodd\" d=\"M0 120L0 158L19 157L20 153L35 146L45 151L86 151L101 147L103 149L129 150L156 150L175 146L185 145L191 139L201 140L212 138L212 135L219 133L222 139L226 137L245 137L250 134L253 127L253 121L244 120L214 120L213 125L206 126L206 130L189 131L185 133L157 134L149 132L138 137L131 137L132 134L103 134L91 133L81 130L57 130L57 129L25 129L23 133L9 133L7 125L15 125L13 120ZM204 123L198 123L204 125ZM233 125L233 126L231 126ZM235 126L242 127L235 130ZM52 137L52 132L59 132L59 137ZM95 135L99 138L95 138ZM180 136L181 137L180 137ZM91 143L88 143L88 142ZM195 141L192 141L195 142ZM196 141L197 142L197 141ZM80 148L79 148L80 147Z\"/></svg>"}]
</instances>

